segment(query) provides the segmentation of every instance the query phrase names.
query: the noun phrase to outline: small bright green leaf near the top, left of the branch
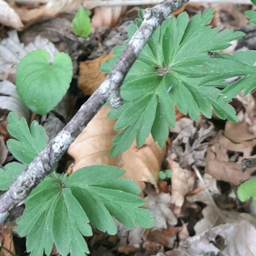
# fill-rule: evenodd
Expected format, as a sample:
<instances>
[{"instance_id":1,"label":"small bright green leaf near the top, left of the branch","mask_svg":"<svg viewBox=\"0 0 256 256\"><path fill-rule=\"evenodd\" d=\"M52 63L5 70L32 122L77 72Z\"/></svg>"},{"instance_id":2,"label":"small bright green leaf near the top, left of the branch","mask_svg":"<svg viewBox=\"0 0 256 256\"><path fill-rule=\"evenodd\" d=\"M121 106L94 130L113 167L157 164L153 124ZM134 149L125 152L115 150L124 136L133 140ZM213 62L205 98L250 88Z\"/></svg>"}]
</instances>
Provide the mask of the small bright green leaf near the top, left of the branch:
<instances>
[{"instance_id":1,"label":"small bright green leaf near the top, left of the branch","mask_svg":"<svg viewBox=\"0 0 256 256\"><path fill-rule=\"evenodd\" d=\"M81 7L72 21L73 32L82 38L86 38L92 31L92 24L89 16L90 11Z\"/></svg>"}]
</instances>

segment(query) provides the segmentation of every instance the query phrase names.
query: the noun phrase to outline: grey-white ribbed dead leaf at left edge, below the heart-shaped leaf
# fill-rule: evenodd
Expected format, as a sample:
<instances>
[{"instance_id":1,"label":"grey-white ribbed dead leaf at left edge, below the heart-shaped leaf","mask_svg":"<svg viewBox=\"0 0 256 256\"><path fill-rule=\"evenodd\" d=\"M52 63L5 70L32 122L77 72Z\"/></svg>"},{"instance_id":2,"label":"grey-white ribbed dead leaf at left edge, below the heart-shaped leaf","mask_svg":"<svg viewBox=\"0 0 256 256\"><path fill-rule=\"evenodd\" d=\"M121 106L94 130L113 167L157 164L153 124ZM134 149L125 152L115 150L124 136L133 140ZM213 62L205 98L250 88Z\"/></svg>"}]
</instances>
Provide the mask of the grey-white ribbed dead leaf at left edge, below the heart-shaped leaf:
<instances>
[{"instance_id":1,"label":"grey-white ribbed dead leaf at left edge, below the heart-shaped leaf","mask_svg":"<svg viewBox=\"0 0 256 256\"><path fill-rule=\"evenodd\" d=\"M18 116L29 119L29 109L20 101L16 86L8 80L0 82L0 109L13 111Z\"/></svg>"}]
</instances>

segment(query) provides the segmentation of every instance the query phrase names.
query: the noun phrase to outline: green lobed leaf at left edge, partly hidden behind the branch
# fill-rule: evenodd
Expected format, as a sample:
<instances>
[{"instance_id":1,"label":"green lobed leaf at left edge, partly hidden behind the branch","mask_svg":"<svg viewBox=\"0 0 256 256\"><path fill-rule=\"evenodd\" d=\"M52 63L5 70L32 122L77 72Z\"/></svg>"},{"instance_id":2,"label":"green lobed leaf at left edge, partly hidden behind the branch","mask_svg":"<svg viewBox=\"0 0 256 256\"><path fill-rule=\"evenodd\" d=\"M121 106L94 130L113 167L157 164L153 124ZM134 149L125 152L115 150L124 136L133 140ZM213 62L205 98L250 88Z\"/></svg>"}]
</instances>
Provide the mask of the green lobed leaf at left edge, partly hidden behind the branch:
<instances>
[{"instance_id":1,"label":"green lobed leaf at left edge, partly hidden behind the branch","mask_svg":"<svg viewBox=\"0 0 256 256\"><path fill-rule=\"evenodd\" d=\"M12 155L21 163L12 162L0 169L0 190L6 190L12 182L26 169L26 166L46 146L46 134L44 127L37 121L29 126L24 117L17 116L10 112L7 116L7 130L13 139L7 140L7 147Z\"/></svg>"}]
</instances>

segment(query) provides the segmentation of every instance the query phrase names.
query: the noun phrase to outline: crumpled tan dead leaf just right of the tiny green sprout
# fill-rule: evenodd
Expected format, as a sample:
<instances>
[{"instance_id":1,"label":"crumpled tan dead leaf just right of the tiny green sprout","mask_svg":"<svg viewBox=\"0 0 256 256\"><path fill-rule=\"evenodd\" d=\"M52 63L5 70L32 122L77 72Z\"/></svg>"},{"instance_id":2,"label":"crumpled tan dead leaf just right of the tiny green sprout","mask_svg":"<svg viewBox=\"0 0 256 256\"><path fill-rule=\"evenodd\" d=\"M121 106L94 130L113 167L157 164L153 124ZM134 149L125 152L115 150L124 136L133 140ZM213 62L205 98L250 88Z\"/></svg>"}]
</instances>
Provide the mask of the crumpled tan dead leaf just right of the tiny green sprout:
<instances>
[{"instance_id":1,"label":"crumpled tan dead leaf just right of the tiny green sprout","mask_svg":"<svg viewBox=\"0 0 256 256\"><path fill-rule=\"evenodd\" d=\"M195 176L193 172L183 169L173 160L168 160L169 169L172 170L172 200L176 207L182 207L185 195L193 189Z\"/></svg>"}]
</instances>

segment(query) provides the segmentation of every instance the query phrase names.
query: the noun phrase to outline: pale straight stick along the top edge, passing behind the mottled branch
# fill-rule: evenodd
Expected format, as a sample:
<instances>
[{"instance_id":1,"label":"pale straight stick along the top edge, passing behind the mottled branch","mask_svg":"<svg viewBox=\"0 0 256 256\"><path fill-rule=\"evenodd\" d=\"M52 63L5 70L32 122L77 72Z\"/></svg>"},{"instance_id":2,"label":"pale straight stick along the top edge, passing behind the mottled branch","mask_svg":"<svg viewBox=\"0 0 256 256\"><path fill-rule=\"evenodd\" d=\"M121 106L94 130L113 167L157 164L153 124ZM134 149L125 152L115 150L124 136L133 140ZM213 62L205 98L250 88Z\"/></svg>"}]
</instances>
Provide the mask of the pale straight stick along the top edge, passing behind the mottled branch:
<instances>
[{"instance_id":1,"label":"pale straight stick along the top edge, passing behind the mottled branch","mask_svg":"<svg viewBox=\"0 0 256 256\"><path fill-rule=\"evenodd\" d=\"M97 6L140 6L149 4L158 4L161 0L84 0L83 6L87 9L93 9ZM235 3L252 4L250 0L190 0L192 3Z\"/></svg>"}]
</instances>

